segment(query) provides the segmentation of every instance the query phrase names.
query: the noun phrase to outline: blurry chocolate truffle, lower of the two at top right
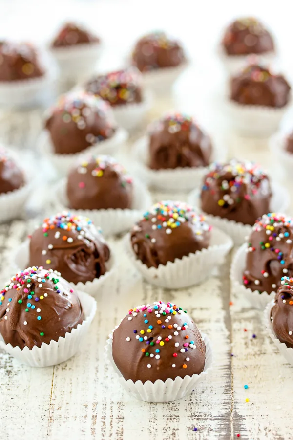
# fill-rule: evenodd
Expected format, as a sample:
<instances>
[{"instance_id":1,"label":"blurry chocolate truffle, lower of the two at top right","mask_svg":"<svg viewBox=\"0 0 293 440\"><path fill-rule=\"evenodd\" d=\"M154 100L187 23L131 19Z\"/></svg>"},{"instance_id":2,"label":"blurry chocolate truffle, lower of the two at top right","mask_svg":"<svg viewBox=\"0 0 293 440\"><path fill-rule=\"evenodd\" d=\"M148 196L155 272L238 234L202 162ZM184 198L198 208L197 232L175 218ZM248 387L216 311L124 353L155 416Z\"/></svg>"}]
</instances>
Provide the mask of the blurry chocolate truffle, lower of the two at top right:
<instances>
[{"instance_id":1,"label":"blurry chocolate truffle, lower of the two at top right","mask_svg":"<svg viewBox=\"0 0 293 440\"><path fill-rule=\"evenodd\" d=\"M243 105L281 108L289 102L290 90L283 75L252 64L231 79L230 99Z\"/></svg>"}]
</instances>

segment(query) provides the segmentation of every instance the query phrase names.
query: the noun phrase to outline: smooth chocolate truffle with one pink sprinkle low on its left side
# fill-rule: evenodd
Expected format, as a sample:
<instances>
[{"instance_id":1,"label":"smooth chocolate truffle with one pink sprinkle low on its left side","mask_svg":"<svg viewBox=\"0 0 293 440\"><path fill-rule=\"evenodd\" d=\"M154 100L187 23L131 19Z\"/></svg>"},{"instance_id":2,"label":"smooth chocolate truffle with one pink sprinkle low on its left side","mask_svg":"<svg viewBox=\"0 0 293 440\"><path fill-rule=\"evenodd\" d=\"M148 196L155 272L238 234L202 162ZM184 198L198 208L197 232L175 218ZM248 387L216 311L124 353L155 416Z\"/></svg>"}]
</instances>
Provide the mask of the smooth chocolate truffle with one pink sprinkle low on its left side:
<instances>
[{"instance_id":1,"label":"smooth chocolate truffle with one pink sprinkle low on its left side","mask_svg":"<svg viewBox=\"0 0 293 440\"><path fill-rule=\"evenodd\" d=\"M110 156L89 156L72 168L67 178L72 209L130 209L132 178Z\"/></svg>"}]
</instances>

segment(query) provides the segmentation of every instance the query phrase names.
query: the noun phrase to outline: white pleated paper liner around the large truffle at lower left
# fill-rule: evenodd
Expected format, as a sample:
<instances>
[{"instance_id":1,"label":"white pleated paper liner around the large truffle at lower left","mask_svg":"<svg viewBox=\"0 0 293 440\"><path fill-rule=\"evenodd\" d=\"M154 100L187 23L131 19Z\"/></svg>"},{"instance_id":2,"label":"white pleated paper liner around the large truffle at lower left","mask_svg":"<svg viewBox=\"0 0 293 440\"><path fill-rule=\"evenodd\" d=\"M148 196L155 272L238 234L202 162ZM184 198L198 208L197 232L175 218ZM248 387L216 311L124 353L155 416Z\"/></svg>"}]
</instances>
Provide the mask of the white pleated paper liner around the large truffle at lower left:
<instances>
[{"instance_id":1,"label":"white pleated paper liner around the large truffle at lower left","mask_svg":"<svg viewBox=\"0 0 293 440\"><path fill-rule=\"evenodd\" d=\"M35 346L32 350L29 350L28 347L21 350L19 347L5 344L0 336L0 347L30 367L49 367L70 359L83 347L85 336L97 308L96 301L87 293L77 292L77 294L84 310L84 321L82 324L78 324L76 329L72 329L64 337L60 337L58 342L52 340L50 344L43 343L41 347Z\"/></svg>"}]
</instances>

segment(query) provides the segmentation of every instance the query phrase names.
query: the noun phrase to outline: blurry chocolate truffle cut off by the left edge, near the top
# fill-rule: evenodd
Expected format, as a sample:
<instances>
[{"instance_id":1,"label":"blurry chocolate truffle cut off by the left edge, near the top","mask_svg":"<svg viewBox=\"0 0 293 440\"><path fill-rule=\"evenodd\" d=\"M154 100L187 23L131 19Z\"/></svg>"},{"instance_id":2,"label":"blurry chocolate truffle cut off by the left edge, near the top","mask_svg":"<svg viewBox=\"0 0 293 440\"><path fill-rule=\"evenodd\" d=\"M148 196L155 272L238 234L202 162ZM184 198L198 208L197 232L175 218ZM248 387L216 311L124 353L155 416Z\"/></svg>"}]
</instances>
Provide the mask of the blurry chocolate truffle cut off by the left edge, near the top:
<instances>
[{"instance_id":1,"label":"blurry chocolate truffle cut off by the left edge, near the top","mask_svg":"<svg viewBox=\"0 0 293 440\"><path fill-rule=\"evenodd\" d=\"M44 74L38 54L28 43L0 42L0 81L23 81Z\"/></svg>"}]
</instances>

